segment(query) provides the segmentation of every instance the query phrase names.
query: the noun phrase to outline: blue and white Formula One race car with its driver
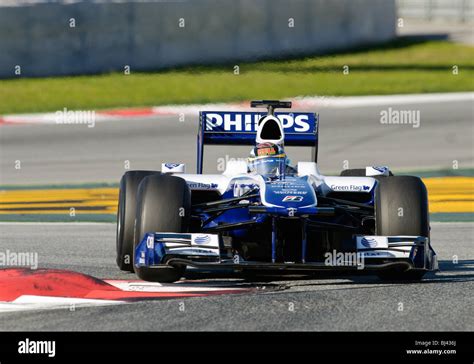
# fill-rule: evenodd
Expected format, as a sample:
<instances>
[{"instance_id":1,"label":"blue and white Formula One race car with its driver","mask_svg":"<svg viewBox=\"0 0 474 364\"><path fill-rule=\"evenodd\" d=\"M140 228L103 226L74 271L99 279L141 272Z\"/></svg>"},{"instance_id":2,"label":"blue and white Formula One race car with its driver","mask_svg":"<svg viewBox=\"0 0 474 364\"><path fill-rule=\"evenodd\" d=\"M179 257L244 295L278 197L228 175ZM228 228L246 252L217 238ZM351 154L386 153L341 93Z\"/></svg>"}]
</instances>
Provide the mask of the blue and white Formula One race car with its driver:
<instances>
[{"instance_id":1,"label":"blue and white Formula One race car with its driver","mask_svg":"<svg viewBox=\"0 0 474 364\"><path fill-rule=\"evenodd\" d=\"M418 177L387 167L324 176L318 115L279 112L291 102L252 101L267 112L201 112L197 173L180 163L129 171L120 182L117 264L144 280L173 282L186 267L282 271L363 270L419 280L437 269L428 198ZM252 145L205 175L205 144ZM291 165L284 146L312 147Z\"/></svg>"}]
</instances>

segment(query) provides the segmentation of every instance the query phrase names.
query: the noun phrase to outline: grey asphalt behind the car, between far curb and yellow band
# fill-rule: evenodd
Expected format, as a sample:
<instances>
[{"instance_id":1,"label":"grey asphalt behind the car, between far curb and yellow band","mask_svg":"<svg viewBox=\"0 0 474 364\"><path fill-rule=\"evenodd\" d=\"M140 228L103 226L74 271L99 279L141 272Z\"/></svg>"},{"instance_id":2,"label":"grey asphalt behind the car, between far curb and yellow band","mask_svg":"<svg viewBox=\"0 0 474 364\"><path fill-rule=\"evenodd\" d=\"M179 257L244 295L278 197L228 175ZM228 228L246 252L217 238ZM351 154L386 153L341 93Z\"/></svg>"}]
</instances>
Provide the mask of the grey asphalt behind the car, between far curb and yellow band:
<instances>
[{"instance_id":1,"label":"grey asphalt behind the car, between far curb and yellow band","mask_svg":"<svg viewBox=\"0 0 474 364\"><path fill-rule=\"evenodd\" d=\"M420 126L385 125L380 112L420 111ZM471 101L321 108L321 172L388 165L393 170L450 169L474 165L474 110ZM145 120L86 125L3 125L0 128L0 185L115 182L130 169L161 168L162 162L196 166L198 116L159 116ZM210 146L204 172L228 158L247 157L250 147ZM287 148L292 162L310 160L310 148ZM15 169L21 161L21 169ZM345 165L345 161L348 165ZM222 171L221 171L222 172Z\"/></svg>"}]
</instances>

